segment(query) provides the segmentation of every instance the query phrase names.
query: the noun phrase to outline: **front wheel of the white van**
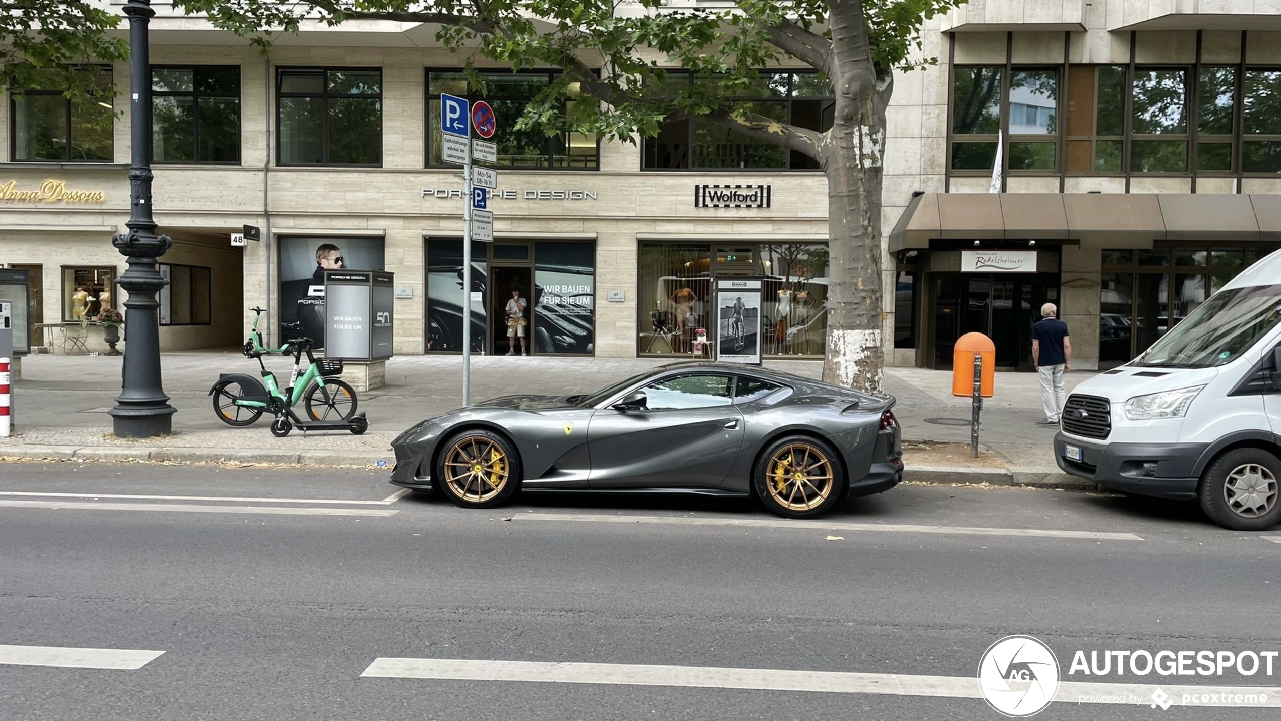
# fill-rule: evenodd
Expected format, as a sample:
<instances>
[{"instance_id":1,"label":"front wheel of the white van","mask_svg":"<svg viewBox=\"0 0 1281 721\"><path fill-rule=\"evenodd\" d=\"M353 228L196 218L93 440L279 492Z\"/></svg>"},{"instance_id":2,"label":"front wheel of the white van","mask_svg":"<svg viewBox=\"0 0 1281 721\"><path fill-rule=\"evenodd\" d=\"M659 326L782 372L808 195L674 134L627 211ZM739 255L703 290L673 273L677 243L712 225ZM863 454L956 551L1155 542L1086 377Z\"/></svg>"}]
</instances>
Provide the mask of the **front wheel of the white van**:
<instances>
[{"instance_id":1,"label":"front wheel of the white van","mask_svg":"<svg viewBox=\"0 0 1281 721\"><path fill-rule=\"evenodd\" d=\"M1267 530L1281 523L1281 460L1259 448L1214 458L1196 489L1209 520L1232 530Z\"/></svg>"}]
</instances>

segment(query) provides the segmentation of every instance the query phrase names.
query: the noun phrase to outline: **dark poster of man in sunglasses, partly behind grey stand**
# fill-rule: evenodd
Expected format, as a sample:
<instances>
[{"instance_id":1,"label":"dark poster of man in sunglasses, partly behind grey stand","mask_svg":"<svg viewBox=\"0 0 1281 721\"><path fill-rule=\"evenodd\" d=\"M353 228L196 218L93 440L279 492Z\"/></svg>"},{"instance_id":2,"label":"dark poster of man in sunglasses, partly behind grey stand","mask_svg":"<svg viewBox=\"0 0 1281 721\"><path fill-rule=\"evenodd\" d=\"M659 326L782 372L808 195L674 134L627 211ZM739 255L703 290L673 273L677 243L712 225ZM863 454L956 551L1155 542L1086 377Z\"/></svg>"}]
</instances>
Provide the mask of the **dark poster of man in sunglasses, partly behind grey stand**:
<instances>
[{"instance_id":1,"label":"dark poster of man in sunglasses, partly behind grey stand","mask_svg":"<svg viewBox=\"0 0 1281 721\"><path fill-rule=\"evenodd\" d=\"M298 334L324 347L324 271L382 270L383 238L281 238L281 339Z\"/></svg>"}]
</instances>

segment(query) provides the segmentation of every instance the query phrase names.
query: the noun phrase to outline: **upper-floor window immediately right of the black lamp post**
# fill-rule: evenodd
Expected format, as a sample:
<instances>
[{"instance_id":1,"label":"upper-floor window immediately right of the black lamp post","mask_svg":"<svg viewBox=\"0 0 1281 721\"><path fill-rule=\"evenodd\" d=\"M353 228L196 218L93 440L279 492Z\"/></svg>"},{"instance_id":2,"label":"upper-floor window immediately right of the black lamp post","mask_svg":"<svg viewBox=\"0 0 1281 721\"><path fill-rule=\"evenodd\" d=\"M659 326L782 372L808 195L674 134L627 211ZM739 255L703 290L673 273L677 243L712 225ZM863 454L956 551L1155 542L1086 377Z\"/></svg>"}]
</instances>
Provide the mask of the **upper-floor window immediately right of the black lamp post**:
<instances>
[{"instance_id":1,"label":"upper-floor window immediately right of the black lamp post","mask_svg":"<svg viewBox=\"0 0 1281 721\"><path fill-rule=\"evenodd\" d=\"M156 163L240 163L240 67L151 68Z\"/></svg>"}]
</instances>

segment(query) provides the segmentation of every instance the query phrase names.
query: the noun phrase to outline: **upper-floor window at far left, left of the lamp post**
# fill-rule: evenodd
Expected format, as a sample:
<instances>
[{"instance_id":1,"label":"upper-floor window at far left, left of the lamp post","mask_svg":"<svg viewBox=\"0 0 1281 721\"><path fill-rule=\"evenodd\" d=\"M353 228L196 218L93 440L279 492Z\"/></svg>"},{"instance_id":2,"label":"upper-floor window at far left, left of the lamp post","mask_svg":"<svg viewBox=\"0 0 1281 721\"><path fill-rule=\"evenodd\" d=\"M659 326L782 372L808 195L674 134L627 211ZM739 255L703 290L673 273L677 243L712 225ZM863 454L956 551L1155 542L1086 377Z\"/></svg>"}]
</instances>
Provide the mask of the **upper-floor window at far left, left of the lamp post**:
<instances>
[{"instance_id":1,"label":"upper-floor window at far left, left of the lamp post","mask_svg":"<svg viewBox=\"0 0 1281 721\"><path fill-rule=\"evenodd\" d=\"M110 102L111 69L102 68L96 82L99 99L68 100L53 77L10 102L14 161L110 163L115 160L114 117Z\"/></svg>"}]
</instances>

